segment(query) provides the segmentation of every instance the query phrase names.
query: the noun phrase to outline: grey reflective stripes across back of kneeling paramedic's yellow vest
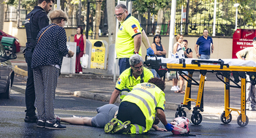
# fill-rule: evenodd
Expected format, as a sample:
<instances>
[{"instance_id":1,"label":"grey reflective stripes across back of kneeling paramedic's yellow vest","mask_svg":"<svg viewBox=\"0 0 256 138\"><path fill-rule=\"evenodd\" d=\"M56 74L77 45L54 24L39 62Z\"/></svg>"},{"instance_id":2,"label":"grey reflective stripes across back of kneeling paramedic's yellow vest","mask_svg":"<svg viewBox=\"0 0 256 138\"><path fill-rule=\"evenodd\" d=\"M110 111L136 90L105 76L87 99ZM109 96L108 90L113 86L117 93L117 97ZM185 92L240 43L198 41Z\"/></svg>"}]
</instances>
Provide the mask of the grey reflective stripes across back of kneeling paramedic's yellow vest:
<instances>
[{"instance_id":1,"label":"grey reflective stripes across back of kneeling paramedic's yellow vest","mask_svg":"<svg viewBox=\"0 0 256 138\"><path fill-rule=\"evenodd\" d=\"M133 90L143 91L143 92L147 93L149 96L151 96L152 99L154 99L154 104L155 104L156 107L157 107L157 101L156 101L155 97L154 97L150 92L148 92L148 91L146 91L146 90L143 90L142 88L134 88ZM144 104L144 105L146 106L146 108L148 109L148 115L151 116L151 109L150 109L150 107L149 107L149 105L148 105L148 102L147 102L145 99L143 99L143 97L137 96L137 95L135 95L135 94L133 94L133 93L128 93L127 95L133 96L133 97L135 97L135 98L137 98L137 99L140 99L140 101L143 101L143 104ZM154 117L153 117L153 118L154 118Z\"/></svg>"}]
</instances>

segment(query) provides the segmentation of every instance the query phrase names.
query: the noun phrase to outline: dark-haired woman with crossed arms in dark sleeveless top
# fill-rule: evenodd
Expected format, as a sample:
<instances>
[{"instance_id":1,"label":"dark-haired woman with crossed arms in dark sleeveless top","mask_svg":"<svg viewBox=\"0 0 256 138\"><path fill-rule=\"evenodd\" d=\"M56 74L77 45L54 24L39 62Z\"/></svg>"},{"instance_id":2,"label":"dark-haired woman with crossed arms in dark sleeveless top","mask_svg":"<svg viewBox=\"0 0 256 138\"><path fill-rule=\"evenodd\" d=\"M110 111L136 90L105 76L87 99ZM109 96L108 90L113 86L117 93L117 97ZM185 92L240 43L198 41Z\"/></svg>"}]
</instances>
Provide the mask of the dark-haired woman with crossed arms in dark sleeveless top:
<instances>
[{"instance_id":1,"label":"dark-haired woman with crossed arms in dark sleeveless top","mask_svg":"<svg viewBox=\"0 0 256 138\"><path fill-rule=\"evenodd\" d=\"M157 57L165 58L166 50L165 50L165 47L161 44L160 34L156 34L154 36L151 48L152 50L154 50L154 54L157 55ZM155 69L151 69L151 72L153 73L154 77L159 77L159 74L157 74Z\"/></svg>"}]
</instances>

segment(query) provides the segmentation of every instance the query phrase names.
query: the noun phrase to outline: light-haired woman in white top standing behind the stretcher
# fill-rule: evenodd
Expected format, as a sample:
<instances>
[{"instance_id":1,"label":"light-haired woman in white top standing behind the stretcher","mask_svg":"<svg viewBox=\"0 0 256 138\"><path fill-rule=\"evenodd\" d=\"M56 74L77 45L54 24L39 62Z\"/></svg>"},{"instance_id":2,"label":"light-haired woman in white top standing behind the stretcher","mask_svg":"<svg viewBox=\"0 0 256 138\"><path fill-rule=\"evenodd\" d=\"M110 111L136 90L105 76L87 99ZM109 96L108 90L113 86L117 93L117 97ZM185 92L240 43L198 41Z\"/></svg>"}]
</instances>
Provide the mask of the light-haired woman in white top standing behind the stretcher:
<instances>
[{"instance_id":1,"label":"light-haired woman in white top standing behind the stretcher","mask_svg":"<svg viewBox=\"0 0 256 138\"><path fill-rule=\"evenodd\" d=\"M176 41L177 42L173 45L173 53L175 55L178 55L178 52L180 50L182 50L182 47L181 47L182 39L183 39L182 34L178 34L176 36ZM178 58L178 57L176 57L176 58ZM173 78L173 86L172 86L172 88L170 88L170 91L174 91L175 93L178 93L179 88L178 88L178 79L177 78Z\"/></svg>"}]
</instances>

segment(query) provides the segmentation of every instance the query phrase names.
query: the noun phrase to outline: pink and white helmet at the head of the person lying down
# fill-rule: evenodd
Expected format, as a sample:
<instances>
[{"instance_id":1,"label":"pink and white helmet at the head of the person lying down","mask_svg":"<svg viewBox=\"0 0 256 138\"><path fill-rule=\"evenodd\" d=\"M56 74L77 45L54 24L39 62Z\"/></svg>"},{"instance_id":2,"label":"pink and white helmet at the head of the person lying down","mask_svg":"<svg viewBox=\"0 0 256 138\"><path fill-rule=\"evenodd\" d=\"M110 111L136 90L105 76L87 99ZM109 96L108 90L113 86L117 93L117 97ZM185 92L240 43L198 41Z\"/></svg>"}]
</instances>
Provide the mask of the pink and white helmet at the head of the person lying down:
<instances>
[{"instance_id":1,"label":"pink and white helmet at the head of the person lying down","mask_svg":"<svg viewBox=\"0 0 256 138\"><path fill-rule=\"evenodd\" d=\"M189 119L178 117L173 119L170 124L174 126L173 134L189 134Z\"/></svg>"}]
</instances>

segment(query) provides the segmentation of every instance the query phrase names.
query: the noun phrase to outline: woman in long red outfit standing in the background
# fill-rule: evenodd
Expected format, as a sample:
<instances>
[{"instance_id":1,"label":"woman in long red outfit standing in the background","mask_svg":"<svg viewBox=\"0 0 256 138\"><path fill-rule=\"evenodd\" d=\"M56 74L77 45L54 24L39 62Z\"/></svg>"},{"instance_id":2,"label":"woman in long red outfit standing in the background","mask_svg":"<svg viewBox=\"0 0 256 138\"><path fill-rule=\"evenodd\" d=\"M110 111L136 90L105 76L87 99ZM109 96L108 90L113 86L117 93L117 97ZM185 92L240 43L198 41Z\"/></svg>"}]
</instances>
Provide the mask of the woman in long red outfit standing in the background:
<instances>
[{"instance_id":1,"label":"woman in long red outfit standing in the background","mask_svg":"<svg viewBox=\"0 0 256 138\"><path fill-rule=\"evenodd\" d=\"M86 36L83 35L83 28L79 26L77 28L77 34L75 34L74 42L80 47L80 53L76 55L75 58L75 73L83 74L83 69L80 64L80 58L83 54L86 54Z\"/></svg>"}]
</instances>

